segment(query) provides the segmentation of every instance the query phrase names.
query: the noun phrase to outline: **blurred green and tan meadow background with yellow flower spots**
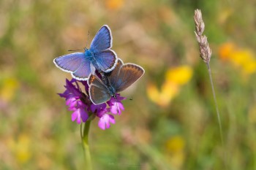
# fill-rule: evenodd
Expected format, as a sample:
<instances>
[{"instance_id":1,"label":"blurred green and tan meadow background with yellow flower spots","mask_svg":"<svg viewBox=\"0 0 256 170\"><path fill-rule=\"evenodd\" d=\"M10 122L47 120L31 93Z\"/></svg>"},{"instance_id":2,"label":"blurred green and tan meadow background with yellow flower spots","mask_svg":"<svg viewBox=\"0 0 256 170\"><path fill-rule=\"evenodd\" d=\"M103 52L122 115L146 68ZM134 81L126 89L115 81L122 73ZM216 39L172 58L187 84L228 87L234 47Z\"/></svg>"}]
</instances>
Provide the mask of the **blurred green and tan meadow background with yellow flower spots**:
<instances>
[{"instance_id":1,"label":"blurred green and tan meadow background with yellow flower spots","mask_svg":"<svg viewBox=\"0 0 256 170\"><path fill-rule=\"evenodd\" d=\"M86 169L80 125L56 93L53 58L108 24L113 50L146 70L125 111L91 124L94 169L256 169L256 1L0 1L0 169ZM222 145L195 40L201 9L212 49ZM87 38L88 31L90 37Z\"/></svg>"}]
</instances>

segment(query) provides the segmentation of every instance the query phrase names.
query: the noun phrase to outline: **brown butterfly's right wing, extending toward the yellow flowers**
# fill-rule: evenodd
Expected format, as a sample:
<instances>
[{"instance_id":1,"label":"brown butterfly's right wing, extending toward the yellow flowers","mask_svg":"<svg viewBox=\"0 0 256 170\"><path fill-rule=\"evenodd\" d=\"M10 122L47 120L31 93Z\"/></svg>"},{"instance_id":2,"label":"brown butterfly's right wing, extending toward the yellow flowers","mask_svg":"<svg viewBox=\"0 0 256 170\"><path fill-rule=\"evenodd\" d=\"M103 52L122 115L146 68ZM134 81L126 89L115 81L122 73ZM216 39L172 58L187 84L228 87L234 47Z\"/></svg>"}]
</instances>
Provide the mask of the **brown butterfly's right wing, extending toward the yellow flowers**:
<instances>
[{"instance_id":1,"label":"brown butterfly's right wing, extending toward the yellow flowers","mask_svg":"<svg viewBox=\"0 0 256 170\"><path fill-rule=\"evenodd\" d=\"M134 63L125 63L116 74L110 74L110 83L116 92L125 90L144 74L144 69Z\"/></svg>"}]
</instances>

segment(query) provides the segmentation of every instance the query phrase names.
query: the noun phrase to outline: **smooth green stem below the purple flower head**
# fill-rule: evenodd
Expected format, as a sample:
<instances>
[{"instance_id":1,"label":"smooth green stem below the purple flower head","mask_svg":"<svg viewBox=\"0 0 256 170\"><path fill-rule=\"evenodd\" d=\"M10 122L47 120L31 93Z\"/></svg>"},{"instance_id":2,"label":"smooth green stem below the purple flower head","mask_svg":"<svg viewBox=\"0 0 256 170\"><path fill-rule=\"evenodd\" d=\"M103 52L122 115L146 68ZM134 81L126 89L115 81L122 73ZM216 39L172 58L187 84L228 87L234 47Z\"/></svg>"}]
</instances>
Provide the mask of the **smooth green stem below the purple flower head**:
<instances>
[{"instance_id":1,"label":"smooth green stem below the purple flower head","mask_svg":"<svg viewBox=\"0 0 256 170\"><path fill-rule=\"evenodd\" d=\"M83 134L82 134L82 125L80 128L80 135L83 144L83 152L86 157L86 169L92 170L91 166L91 153L89 148L89 129L90 129L91 120L87 120L84 127L83 127Z\"/></svg>"}]
</instances>

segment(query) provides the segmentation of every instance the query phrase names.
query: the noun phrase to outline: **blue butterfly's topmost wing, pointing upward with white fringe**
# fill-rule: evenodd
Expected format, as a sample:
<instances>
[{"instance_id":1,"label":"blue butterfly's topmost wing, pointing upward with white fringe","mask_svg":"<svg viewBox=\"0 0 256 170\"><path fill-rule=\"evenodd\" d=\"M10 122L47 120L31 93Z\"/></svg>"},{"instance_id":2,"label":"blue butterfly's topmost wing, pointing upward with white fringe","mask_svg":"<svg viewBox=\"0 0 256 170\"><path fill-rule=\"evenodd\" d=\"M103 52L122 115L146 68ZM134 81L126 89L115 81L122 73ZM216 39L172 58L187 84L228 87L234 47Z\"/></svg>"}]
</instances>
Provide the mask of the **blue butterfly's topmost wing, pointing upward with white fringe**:
<instances>
[{"instance_id":1,"label":"blue butterfly's topmost wing, pointing upward with white fringe","mask_svg":"<svg viewBox=\"0 0 256 170\"><path fill-rule=\"evenodd\" d=\"M91 42L91 51L94 53L108 50L112 47L112 35L110 28L105 25L99 29L97 34L94 36L94 39Z\"/></svg>"}]
</instances>

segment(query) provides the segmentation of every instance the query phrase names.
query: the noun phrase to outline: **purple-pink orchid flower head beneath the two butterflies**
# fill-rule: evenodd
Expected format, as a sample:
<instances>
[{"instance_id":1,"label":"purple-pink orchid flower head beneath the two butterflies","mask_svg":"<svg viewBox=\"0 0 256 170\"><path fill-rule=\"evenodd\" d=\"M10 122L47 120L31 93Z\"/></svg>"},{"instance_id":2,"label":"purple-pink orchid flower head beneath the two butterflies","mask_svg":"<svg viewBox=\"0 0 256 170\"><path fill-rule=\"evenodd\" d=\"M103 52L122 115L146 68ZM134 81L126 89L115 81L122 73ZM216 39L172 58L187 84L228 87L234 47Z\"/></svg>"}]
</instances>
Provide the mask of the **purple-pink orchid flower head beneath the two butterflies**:
<instances>
[{"instance_id":1,"label":"purple-pink orchid flower head beneath the two butterflies","mask_svg":"<svg viewBox=\"0 0 256 170\"><path fill-rule=\"evenodd\" d=\"M83 93L78 85L78 82L84 86L86 93ZM59 96L65 98L68 109L72 112L71 120L80 124L86 123L89 120L90 115L94 114L94 117L99 117L98 126L102 130L110 128L110 124L115 124L116 120L113 115L121 115L121 111L124 110L124 105L121 103L125 98L116 94L116 98L110 98L107 103L93 104L87 94L89 86L86 81L78 81L75 79L66 80L64 85L66 90L64 93L59 93ZM112 113L113 115L108 114Z\"/></svg>"}]
</instances>

